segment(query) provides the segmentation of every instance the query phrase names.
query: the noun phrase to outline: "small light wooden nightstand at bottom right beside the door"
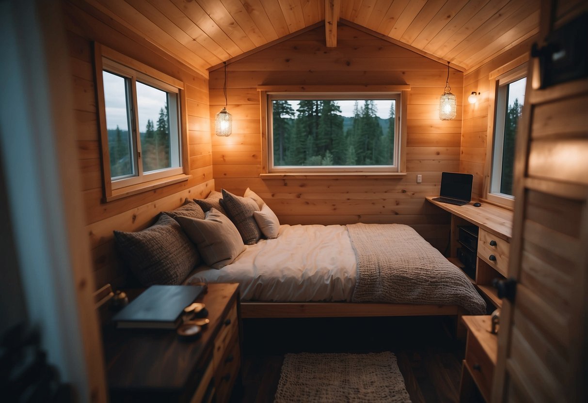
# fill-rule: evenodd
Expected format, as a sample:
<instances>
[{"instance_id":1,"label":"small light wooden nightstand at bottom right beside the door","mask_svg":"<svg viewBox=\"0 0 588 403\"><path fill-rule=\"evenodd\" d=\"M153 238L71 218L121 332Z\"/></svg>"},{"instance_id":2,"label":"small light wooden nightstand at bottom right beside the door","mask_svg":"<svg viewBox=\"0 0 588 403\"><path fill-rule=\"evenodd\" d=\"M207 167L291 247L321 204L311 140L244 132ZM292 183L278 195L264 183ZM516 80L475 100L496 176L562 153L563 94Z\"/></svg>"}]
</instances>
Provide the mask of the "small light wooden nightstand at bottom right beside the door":
<instances>
[{"instance_id":1,"label":"small light wooden nightstand at bottom right beside the door","mask_svg":"<svg viewBox=\"0 0 588 403\"><path fill-rule=\"evenodd\" d=\"M459 401L472 401L474 388L477 387L485 401L489 402L498 349L496 334L490 333L492 317L463 316L462 320L467 328L467 341Z\"/></svg>"}]
</instances>

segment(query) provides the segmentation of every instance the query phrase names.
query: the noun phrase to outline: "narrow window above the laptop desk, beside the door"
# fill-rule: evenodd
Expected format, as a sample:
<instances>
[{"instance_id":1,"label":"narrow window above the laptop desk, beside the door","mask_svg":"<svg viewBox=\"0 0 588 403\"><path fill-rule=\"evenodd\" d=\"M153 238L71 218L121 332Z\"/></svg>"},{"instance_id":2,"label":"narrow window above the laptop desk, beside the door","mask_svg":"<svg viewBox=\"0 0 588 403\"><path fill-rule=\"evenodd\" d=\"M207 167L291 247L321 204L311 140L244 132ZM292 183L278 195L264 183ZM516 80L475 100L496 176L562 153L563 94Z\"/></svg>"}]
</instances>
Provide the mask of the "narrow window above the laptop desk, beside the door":
<instances>
[{"instance_id":1,"label":"narrow window above the laptop desk, beside the door","mask_svg":"<svg viewBox=\"0 0 588 403\"><path fill-rule=\"evenodd\" d=\"M514 200L515 139L523 112L525 75L526 66L521 66L497 78L492 171L487 197L490 201L510 207Z\"/></svg>"}]
</instances>

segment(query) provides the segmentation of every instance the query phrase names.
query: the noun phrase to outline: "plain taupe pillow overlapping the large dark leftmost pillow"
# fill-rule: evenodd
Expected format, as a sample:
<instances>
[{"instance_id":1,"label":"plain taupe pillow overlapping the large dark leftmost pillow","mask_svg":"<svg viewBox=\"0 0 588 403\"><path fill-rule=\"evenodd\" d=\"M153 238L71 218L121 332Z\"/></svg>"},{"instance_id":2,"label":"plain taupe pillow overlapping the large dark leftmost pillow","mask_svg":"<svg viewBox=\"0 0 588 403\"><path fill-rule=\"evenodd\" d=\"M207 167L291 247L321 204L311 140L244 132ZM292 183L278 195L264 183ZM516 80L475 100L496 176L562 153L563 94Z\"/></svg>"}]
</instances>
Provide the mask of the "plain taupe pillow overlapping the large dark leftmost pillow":
<instances>
[{"instance_id":1,"label":"plain taupe pillow overlapping the large dark leftmost pillow","mask_svg":"<svg viewBox=\"0 0 588 403\"><path fill-rule=\"evenodd\" d=\"M178 217L182 229L198 246L207 266L223 268L245 250L239 231L225 214L212 208L204 220Z\"/></svg>"}]
</instances>

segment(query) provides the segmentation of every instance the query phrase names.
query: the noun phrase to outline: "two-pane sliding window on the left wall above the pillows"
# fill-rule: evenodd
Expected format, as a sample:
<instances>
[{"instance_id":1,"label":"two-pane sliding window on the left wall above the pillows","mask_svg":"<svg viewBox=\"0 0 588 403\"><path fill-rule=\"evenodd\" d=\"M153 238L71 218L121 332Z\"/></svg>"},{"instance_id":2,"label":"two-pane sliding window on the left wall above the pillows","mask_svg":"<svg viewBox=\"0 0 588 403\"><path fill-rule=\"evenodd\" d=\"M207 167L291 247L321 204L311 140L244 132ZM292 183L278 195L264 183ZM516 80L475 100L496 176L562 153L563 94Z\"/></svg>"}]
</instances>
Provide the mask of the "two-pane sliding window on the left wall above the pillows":
<instances>
[{"instance_id":1,"label":"two-pane sliding window on the left wall above the pillows","mask_svg":"<svg viewBox=\"0 0 588 403\"><path fill-rule=\"evenodd\" d=\"M98 46L106 200L187 179L182 150L183 84ZM115 61L116 59L116 61ZM129 67L132 66L132 67ZM105 152L108 150L108 152Z\"/></svg>"}]
</instances>

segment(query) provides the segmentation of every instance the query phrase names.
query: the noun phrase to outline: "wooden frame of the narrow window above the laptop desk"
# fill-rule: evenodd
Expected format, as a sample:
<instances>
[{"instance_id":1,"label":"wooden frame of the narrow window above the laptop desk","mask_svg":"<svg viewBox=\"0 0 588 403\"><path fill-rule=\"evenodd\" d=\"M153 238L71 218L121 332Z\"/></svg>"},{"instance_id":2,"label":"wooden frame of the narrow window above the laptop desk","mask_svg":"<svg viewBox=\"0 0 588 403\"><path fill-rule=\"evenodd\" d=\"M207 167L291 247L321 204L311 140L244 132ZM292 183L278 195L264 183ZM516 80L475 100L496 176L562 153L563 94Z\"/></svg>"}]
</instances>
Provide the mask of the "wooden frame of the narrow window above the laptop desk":
<instances>
[{"instance_id":1,"label":"wooden frame of the narrow window above the laptop desk","mask_svg":"<svg viewBox=\"0 0 588 403\"><path fill-rule=\"evenodd\" d=\"M500 180L496 180L502 176L502 143L505 134L506 102L508 102L506 88L510 83L528 77L527 68L525 62L500 75L490 75L490 79L494 80L494 98L489 105L489 115L492 113L492 120L487 132L484 196L487 201L511 210L515 207L515 196L500 193ZM497 146L499 144L500 147Z\"/></svg>"}]
</instances>

